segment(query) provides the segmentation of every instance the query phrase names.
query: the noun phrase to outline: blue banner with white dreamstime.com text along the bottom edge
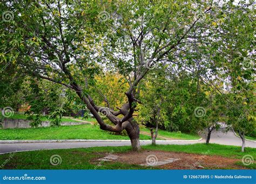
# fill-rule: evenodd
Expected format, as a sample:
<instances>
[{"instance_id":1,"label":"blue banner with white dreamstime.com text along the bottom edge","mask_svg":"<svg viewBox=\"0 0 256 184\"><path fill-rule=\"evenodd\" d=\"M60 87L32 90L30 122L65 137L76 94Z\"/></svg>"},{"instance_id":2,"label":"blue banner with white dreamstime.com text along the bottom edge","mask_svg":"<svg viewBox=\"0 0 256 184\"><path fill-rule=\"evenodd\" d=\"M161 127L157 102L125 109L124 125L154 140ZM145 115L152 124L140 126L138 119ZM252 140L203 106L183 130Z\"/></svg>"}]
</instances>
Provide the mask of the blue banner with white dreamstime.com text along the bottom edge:
<instances>
[{"instance_id":1,"label":"blue banner with white dreamstime.com text along the bottom edge","mask_svg":"<svg viewBox=\"0 0 256 184\"><path fill-rule=\"evenodd\" d=\"M0 183L256 183L255 170L0 170Z\"/></svg>"}]
</instances>

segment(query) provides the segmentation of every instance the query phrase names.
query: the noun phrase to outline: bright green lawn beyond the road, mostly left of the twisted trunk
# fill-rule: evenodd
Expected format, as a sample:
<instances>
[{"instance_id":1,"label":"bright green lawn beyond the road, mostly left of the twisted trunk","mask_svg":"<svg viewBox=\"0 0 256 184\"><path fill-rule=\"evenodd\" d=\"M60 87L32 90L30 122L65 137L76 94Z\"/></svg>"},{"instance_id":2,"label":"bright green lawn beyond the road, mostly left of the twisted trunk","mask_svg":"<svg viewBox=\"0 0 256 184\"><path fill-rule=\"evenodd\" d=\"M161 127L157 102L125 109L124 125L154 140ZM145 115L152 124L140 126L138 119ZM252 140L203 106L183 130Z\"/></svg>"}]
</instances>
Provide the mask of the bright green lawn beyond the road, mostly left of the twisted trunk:
<instances>
[{"instance_id":1,"label":"bright green lawn beyond the road, mostly left of the twisted trunk","mask_svg":"<svg viewBox=\"0 0 256 184\"><path fill-rule=\"evenodd\" d=\"M100 130L95 125L73 125L60 127L15 128L0 130L0 140L40 140L40 139L127 139L127 135L115 135ZM141 135L140 139L151 137Z\"/></svg>"}]
</instances>

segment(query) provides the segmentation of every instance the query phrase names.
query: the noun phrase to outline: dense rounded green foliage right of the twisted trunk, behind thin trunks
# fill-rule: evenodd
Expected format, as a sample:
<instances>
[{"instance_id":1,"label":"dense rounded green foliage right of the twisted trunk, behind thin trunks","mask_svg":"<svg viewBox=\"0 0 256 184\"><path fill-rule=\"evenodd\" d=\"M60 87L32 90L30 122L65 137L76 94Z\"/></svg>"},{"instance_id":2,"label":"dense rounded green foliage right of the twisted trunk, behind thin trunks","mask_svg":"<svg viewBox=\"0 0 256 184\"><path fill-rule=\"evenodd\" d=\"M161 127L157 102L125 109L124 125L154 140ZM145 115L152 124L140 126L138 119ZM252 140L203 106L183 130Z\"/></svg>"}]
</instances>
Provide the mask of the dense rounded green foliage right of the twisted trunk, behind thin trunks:
<instances>
[{"instance_id":1,"label":"dense rounded green foliage right of the twisted trunk, behind thin trunks","mask_svg":"<svg viewBox=\"0 0 256 184\"><path fill-rule=\"evenodd\" d=\"M160 126L169 131L198 132L216 126L220 120L223 98L213 96L207 84L193 79L191 74L183 72L179 76L170 73L158 73L157 77L149 77L150 88L143 93L143 105L139 106L139 120L148 126L155 126L155 119ZM156 108L160 106L159 117ZM201 116L197 116L197 108L202 108ZM200 115L200 114L199 114Z\"/></svg>"}]
</instances>

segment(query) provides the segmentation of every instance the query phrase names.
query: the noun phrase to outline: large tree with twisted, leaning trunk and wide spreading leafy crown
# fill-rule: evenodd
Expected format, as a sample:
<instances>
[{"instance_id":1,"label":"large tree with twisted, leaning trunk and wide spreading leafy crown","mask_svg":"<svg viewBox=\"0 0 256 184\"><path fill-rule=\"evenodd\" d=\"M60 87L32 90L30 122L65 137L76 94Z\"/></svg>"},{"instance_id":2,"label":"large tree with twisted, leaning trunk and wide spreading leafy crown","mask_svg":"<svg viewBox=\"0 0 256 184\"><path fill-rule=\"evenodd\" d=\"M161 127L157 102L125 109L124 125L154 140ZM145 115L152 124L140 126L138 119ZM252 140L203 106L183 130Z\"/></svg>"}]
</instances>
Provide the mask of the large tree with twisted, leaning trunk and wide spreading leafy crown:
<instances>
[{"instance_id":1,"label":"large tree with twisted, leaning trunk and wide spreading leafy crown","mask_svg":"<svg viewBox=\"0 0 256 184\"><path fill-rule=\"evenodd\" d=\"M2 67L12 63L14 71L72 89L102 130L126 130L139 150L133 113L146 74L161 62L211 79L226 62L226 25L239 18L250 22L251 8L233 1L5 0L1 15ZM90 94L95 77L106 71L127 80L121 107L101 107Z\"/></svg>"}]
</instances>

